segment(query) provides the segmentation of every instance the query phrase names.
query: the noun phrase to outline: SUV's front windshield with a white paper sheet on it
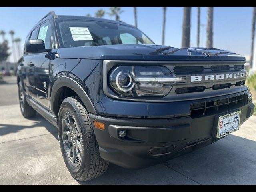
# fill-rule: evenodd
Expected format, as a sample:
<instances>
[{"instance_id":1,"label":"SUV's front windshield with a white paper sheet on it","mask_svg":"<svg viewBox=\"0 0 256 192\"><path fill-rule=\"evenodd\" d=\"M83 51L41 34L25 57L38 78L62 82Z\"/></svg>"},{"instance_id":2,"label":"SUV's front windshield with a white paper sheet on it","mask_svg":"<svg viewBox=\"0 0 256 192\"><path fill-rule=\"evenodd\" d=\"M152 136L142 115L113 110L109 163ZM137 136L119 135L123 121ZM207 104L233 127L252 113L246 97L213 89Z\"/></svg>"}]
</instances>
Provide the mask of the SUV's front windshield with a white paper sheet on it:
<instances>
[{"instance_id":1,"label":"SUV's front windshield with a white paper sheet on it","mask_svg":"<svg viewBox=\"0 0 256 192\"><path fill-rule=\"evenodd\" d=\"M134 27L99 21L56 20L60 47L154 44Z\"/></svg>"}]
</instances>

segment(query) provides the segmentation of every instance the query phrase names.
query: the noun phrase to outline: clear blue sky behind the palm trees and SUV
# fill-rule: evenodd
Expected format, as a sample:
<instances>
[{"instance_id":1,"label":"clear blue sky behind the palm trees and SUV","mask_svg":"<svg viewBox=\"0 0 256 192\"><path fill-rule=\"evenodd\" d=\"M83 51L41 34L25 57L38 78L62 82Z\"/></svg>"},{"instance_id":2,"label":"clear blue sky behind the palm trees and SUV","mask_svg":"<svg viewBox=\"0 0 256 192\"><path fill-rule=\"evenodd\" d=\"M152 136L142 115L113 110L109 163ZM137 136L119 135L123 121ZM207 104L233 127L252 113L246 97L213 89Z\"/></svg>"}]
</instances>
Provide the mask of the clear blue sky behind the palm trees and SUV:
<instances>
[{"instance_id":1,"label":"clear blue sky behind the palm trees and SUV","mask_svg":"<svg viewBox=\"0 0 256 192\"><path fill-rule=\"evenodd\" d=\"M1 7L0 30L14 30L14 38L21 38L22 49L29 30L48 12L54 10L58 15L94 16L98 9L109 12L109 7ZM133 7L122 7L120 20L134 25ZM183 7L168 7L166 12L165 44L180 48L182 40ZM104 16L110 18L108 14ZM162 42L162 7L138 7L138 28L156 44ZM207 7L201 7L201 24L207 24ZM214 7L213 46L250 56L252 7ZM203 31L202 31L203 30ZM190 46L196 46L197 8L191 10ZM10 35L6 34L10 42ZM2 42L2 37L0 37ZM206 46L206 26L201 27L200 46ZM12 61L12 56L10 61Z\"/></svg>"}]
</instances>

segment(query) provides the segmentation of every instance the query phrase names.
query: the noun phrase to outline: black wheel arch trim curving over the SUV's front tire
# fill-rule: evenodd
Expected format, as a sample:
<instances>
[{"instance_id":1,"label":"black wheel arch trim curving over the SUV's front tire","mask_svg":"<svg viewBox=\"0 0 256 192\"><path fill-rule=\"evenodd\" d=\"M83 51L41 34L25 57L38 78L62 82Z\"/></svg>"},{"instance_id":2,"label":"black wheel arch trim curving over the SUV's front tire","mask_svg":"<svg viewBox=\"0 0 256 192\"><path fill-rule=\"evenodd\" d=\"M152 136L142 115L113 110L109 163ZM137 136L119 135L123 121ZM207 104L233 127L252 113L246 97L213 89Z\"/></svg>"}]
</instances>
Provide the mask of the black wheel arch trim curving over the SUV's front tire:
<instances>
[{"instance_id":1,"label":"black wheel arch trim curving over the SUV's front tire","mask_svg":"<svg viewBox=\"0 0 256 192\"><path fill-rule=\"evenodd\" d=\"M78 83L76 80L68 76L61 76L57 78L56 81L54 82L51 90L51 95L50 95L50 110L52 111L52 114L55 117L58 117L58 114L56 114L55 109L58 108L58 98L60 96L60 92L61 92L60 90L62 87L68 87L72 89L74 92L76 92L78 97L82 100L86 110L90 113L96 114L96 110L88 94L82 88L80 83Z\"/></svg>"}]
</instances>

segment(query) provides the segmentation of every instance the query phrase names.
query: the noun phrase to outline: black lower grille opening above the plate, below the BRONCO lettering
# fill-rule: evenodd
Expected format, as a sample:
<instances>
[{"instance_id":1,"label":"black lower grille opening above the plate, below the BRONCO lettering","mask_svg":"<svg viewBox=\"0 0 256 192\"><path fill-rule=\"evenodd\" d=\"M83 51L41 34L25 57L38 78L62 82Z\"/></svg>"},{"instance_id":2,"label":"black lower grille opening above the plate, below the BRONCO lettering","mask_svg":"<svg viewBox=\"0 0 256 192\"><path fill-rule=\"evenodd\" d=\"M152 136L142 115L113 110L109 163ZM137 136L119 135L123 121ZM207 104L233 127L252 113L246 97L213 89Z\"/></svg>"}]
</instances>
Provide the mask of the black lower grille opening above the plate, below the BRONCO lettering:
<instances>
[{"instance_id":1,"label":"black lower grille opening above the plate, below the BRONCO lettering","mask_svg":"<svg viewBox=\"0 0 256 192\"><path fill-rule=\"evenodd\" d=\"M248 96L247 94L243 94L226 99L195 103L190 105L190 114L191 118L209 116L243 106L244 104L247 104L247 102Z\"/></svg>"}]
</instances>

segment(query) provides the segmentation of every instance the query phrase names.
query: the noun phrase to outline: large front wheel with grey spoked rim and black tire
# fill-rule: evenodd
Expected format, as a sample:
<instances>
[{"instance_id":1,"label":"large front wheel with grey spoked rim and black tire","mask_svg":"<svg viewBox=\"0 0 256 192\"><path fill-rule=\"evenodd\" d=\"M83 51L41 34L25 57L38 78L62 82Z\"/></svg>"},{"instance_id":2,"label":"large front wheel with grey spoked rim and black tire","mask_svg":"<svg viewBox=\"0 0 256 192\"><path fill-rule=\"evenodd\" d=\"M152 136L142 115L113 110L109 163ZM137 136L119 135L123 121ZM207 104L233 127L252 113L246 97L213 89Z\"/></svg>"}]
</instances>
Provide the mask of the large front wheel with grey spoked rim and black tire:
<instances>
[{"instance_id":1,"label":"large front wheel with grey spoked rim and black tire","mask_svg":"<svg viewBox=\"0 0 256 192\"><path fill-rule=\"evenodd\" d=\"M100 157L88 113L76 96L65 98L60 105L58 137L64 162L74 178L87 181L106 172L108 162Z\"/></svg>"}]
</instances>

